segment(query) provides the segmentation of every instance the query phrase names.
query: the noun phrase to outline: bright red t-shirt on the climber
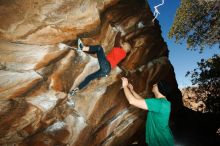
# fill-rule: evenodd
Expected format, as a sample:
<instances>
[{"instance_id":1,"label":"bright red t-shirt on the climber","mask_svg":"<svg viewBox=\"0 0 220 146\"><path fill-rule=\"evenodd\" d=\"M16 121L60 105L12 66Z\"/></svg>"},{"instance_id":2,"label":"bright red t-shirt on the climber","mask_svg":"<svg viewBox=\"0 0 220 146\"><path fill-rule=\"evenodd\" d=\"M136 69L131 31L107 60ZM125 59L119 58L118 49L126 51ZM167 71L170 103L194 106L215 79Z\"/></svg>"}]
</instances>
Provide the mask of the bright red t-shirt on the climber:
<instances>
[{"instance_id":1,"label":"bright red t-shirt on the climber","mask_svg":"<svg viewBox=\"0 0 220 146\"><path fill-rule=\"evenodd\" d=\"M111 68L115 68L117 64L126 56L125 50L122 48L112 48L112 50L106 56L106 59L110 62Z\"/></svg>"}]
</instances>

